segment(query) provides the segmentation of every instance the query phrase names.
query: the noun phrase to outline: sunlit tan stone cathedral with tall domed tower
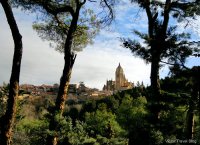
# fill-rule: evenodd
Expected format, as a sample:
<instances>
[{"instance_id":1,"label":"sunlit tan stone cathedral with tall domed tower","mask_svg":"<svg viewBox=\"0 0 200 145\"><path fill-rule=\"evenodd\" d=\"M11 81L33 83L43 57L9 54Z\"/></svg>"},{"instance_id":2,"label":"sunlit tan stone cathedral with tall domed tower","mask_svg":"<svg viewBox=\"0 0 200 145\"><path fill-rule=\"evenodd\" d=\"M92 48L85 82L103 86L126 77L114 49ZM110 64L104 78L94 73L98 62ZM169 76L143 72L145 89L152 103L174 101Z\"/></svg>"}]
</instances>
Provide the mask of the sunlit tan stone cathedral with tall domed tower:
<instances>
[{"instance_id":1,"label":"sunlit tan stone cathedral with tall domed tower","mask_svg":"<svg viewBox=\"0 0 200 145\"><path fill-rule=\"evenodd\" d=\"M123 68L121 67L120 63L115 71L115 81L107 80L106 84L103 87L104 91L121 91L127 90L134 87L134 84L128 82L124 75Z\"/></svg>"}]
</instances>

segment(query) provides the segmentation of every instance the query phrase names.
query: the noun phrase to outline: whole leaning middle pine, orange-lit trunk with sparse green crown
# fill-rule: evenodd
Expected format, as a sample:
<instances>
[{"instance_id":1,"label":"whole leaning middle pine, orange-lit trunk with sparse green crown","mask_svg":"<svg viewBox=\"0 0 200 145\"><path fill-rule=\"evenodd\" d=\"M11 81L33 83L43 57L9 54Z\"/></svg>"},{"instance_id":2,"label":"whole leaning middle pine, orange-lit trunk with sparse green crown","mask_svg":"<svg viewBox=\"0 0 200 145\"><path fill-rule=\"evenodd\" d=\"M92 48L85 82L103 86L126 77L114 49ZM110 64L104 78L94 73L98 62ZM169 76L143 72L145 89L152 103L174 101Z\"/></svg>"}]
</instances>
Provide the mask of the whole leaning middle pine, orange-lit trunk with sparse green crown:
<instances>
[{"instance_id":1,"label":"whole leaning middle pine, orange-lit trunk with sparse green crown","mask_svg":"<svg viewBox=\"0 0 200 145\"><path fill-rule=\"evenodd\" d=\"M52 132L47 138L48 145L56 145L58 142L57 122L55 117L62 116L67 99L67 91L71 78L72 68L76 60L75 49L80 49L88 44L88 40L94 37L96 30L88 21L88 17L83 12L86 2L95 2L90 0L15 0L15 6L21 6L24 9L39 11L45 16L44 24L35 24L34 29L40 37L45 40L53 41L57 44L56 48L64 52L64 69L60 79L55 107L51 112L49 130ZM102 21L104 24L110 23L113 18L112 4L114 0L101 0L100 6L107 8L108 17ZM92 11L87 10L87 13ZM95 17L90 17L94 21ZM95 23L94 23L95 24ZM98 24L98 23L97 23Z\"/></svg>"}]
</instances>

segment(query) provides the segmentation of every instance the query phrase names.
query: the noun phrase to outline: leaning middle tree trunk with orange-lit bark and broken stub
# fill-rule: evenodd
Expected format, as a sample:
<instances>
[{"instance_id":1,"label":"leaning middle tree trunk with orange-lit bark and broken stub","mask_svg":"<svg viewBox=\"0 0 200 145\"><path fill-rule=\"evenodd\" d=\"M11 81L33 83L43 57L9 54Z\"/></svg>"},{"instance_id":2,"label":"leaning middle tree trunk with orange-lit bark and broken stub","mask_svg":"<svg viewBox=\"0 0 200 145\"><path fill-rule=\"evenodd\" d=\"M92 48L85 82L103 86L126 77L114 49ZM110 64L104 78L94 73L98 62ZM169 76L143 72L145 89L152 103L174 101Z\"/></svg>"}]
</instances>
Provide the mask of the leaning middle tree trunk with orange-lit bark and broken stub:
<instances>
[{"instance_id":1,"label":"leaning middle tree trunk with orange-lit bark and broken stub","mask_svg":"<svg viewBox=\"0 0 200 145\"><path fill-rule=\"evenodd\" d=\"M68 91L68 86L71 78L71 72L72 68L76 59L76 55L72 52L72 43L73 43L73 34L76 31L77 28L77 23L78 23L78 17L79 17L79 10L80 8L77 8L76 13L73 15L72 22L67 34L67 39L65 42L65 64L64 64L64 69L63 69L63 74L60 79L60 86L58 90L58 95L56 98L56 104L55 104L55 109L54 112L52 113L52 118L50 120L49 124L49 130L54 131L53 135L49 135L47 137L47 145L57 145L58 143L58 136L57 131L59 130L58 122L55 120L56 115L62 116L63 110L65 107L65 101L67 99L67 91Z\"/></svg>"}]
</instances>

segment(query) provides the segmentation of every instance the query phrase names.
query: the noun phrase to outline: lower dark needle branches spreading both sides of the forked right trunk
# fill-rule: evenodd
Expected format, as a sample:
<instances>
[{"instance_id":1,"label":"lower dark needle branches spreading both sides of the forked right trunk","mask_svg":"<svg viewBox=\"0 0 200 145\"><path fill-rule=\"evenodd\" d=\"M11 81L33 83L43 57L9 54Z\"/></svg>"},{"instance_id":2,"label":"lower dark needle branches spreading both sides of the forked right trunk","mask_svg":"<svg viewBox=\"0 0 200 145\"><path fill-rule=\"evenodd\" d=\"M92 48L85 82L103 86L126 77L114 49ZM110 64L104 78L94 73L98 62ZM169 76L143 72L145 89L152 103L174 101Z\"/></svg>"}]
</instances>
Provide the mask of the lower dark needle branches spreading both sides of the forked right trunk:
<instances>
[{"instance_id":1,"label":"lower dark needle branches spreading both sides of the forked right trunk","mask_svg":"<svg viewBox=\"0 0 200 145\"><path fill-rule=\"evenodd\" d=\"M161 27L161 26L158 26ZM161 28L160 28L161 29ZM159 33L161 30L155 32L155 38L150 38L147 34L134 31L134 34L139 36L144 44L137 40L122 39L125 48L129 48L134 56L138 56L144 59L147 63L152 60L152 49L155 47L153 43L160 45L161 51L160 60L167 59L167 63L170 64L180 64L185 63L187 57L191 56L193 53L199 53L199 42L194 42L190 40L190 34L177 33L176 27L169 27L166 34L166 39L162 44L160 44L160 38L162 34ZM155 40L152 40L155 39Z\"/></svg>"}]
</instances>

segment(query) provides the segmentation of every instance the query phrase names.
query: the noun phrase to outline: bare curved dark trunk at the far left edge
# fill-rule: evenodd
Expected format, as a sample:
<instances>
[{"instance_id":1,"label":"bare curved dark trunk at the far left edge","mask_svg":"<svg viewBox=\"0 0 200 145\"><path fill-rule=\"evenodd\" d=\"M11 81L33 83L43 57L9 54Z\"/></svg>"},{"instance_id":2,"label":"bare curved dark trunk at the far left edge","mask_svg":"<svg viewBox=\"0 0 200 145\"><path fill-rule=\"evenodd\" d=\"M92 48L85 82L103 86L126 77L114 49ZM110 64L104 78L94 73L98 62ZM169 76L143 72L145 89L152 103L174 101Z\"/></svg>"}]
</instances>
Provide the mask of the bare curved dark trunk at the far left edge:
<instances>
[{"instance_id":1,"label":"bare curved dark trunk at the far left edge","mask_svg":"<svg viewBox=\"0 0 200 145\"><path fill-rule=\"evenodd\" d=\"M22 58L22 36L19 33L11 6L8 0L1 0L14 40L14 56L10 77L9 95L5 115L1 118L1 145L10 145L12 141L12 128L16 115L16 101L19 91L19 76Z\"/></svg>"}]
</instances>

